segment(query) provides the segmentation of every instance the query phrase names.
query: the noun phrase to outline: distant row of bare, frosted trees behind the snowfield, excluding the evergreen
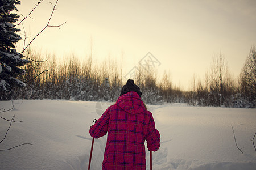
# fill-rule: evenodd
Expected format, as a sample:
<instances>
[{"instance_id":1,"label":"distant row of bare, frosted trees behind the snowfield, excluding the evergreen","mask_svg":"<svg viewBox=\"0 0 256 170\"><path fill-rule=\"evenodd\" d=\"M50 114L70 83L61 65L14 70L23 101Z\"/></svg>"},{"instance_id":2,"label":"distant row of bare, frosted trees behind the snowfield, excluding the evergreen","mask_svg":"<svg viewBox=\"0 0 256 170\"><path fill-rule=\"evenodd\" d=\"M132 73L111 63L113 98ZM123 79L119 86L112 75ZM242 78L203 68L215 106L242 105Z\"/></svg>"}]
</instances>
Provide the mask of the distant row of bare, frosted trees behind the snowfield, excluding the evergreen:
<instances>
[{"instance_id":1,"label":"distant row of bare, frosted trees behind the snowfield, excluding the evergreen","mask_svg":"<svg viewBox=\"0 0 256 170\"><path fill-rule=\"evenodd\" d=\"M19 79L26 87L13 88L1 100L9 99L61 99L86 101L115 101L119 97L123 79L122 67L113 59L93 63L92 56L81 62L70 56L57 61L29 49L32 61L24 66L26 74ZM167 73L156 77L156 70L137 67L135 83L141 87L142 100L146 104L187 103L189 105L255 108L256 101L256 48L251 50L238 78L233 78L225 57L213 57L204 79L194 76L191 90L183 91L175 86Z\"/></svg>"}]
</instances>

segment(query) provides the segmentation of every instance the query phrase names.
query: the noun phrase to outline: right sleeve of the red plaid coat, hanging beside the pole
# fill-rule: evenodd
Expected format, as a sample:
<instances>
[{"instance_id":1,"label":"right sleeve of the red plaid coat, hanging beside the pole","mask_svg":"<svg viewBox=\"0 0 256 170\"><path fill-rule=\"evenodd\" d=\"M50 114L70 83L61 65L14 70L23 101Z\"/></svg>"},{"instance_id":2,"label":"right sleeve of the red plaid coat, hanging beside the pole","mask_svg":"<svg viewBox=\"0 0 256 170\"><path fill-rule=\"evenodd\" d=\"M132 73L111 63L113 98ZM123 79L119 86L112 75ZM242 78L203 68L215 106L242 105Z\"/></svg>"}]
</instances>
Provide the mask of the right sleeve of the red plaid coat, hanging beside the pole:
<instances>
[{"instance_id":1,"label":"right sleeve of the red plaid coat, hanging beside the pole","mask_svg":"<svg viewBox=\"0 0 256 170\"><path fill-rule=\"evenodd\" d=\"M150 114L150 121L148 124L148 130L146 135L147 148L150 151L157 151L160 147L160 133L157 129L155 129L155 121Z\"/></svg>"}]
</instances>

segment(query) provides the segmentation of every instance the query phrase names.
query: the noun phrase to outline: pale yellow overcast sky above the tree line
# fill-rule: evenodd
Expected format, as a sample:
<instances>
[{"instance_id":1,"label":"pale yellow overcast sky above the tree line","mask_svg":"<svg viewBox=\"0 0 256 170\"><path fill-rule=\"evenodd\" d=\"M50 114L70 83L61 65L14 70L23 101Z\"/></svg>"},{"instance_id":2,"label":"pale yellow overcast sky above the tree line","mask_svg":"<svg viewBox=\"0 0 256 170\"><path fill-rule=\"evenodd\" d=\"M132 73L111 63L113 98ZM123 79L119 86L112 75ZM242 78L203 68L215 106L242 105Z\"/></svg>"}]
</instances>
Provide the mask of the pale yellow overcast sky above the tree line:
<instances>
[{"instance_id":1,"label":"pale yellow overcast sky above the tree line","mask_svg":"<svg viewBox=\"0 0 256 170\"><path fill-rule=\"evenodd\" d=\"M19 13L26 16L38 1L21 0ZM150 54L159 78L166 71L172 83L188 90L193 75L204 79L220 54L234 78L240 74L256 45L255 7L254 0L59 0L50 25L67 23L48 27L32 47L60 59L71 53L85 58L92 47L94 62L122 61L123 75ZM40 3L23 23L26 35L40 32L51 11L49 1Z\"/></svg>"}]
</instances>

